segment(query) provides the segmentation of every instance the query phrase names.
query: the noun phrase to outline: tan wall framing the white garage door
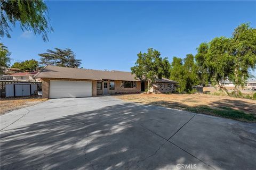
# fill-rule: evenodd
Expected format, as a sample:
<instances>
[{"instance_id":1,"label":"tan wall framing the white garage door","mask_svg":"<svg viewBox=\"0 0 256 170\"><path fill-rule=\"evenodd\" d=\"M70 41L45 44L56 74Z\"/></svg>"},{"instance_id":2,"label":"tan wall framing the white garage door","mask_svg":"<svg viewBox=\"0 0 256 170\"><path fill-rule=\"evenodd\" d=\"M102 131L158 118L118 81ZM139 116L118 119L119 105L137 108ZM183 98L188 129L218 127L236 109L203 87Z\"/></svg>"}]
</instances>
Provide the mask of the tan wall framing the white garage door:
<instances>
[{"instance_id":1,"label":"tan wall framing the white garage door","mask_svg":"<svg viewBox=\"0 0 256 170\"><path fill-rule=\"evenodd\" d=\"M97 96L97 80L42 78L42 92L43 92L42 98L49 98L49 82L50 82L50 80L91 81L92 82L92 96Z\"/></svg>"}]
</instances>

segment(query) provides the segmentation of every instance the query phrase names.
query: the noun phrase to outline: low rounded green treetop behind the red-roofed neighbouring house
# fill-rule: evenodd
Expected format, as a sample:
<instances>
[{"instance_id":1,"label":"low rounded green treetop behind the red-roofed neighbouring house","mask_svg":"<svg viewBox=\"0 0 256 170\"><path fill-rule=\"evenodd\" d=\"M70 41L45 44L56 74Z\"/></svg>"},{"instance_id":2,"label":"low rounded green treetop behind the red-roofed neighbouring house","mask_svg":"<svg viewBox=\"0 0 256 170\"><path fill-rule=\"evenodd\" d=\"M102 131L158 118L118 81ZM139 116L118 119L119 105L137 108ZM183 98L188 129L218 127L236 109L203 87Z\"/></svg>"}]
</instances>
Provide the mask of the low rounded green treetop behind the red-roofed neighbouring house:
<instances>
[{"instance_id":1,"label":"low rounded green treetop behind the red-roofed neighbouring house","mask_svg":"<svg viewBox=\"0 0 256 170\"><path fill-rule=\"evenodd\" d=\"M12 68L21 69L22 71L37 71L39 70L39 64L38 61L32 59L32 60L26 60L23 62L15 62L11 66Z\"/></svg>"}]
</instances>

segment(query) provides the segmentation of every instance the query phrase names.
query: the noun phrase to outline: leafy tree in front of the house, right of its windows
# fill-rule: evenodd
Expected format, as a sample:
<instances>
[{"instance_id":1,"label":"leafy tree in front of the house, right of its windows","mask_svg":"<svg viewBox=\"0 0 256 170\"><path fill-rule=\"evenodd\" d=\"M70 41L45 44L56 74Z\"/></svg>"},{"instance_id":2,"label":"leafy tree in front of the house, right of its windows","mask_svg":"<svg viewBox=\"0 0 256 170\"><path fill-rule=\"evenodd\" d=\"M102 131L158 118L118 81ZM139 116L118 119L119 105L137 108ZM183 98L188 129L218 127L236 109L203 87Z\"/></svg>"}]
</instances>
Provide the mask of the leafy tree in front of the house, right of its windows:
<instances>
[{"instance_id":1,"label":"leafy tree in front of the house, right of its windows","mask_svg":"<svg viewBox=\"0 0 256 170\"><path fill-rule=\"evenodd\" d=\"M152 83L156 79L162 79L162 77L169 77L170 63L167 57L160 57L160 53L153 49L148 48L147 53L137 54L138 59L135 66L131 67L131 71L140 80L146 80L148 82L148 92Z\"/></svg>"}]
</instances>

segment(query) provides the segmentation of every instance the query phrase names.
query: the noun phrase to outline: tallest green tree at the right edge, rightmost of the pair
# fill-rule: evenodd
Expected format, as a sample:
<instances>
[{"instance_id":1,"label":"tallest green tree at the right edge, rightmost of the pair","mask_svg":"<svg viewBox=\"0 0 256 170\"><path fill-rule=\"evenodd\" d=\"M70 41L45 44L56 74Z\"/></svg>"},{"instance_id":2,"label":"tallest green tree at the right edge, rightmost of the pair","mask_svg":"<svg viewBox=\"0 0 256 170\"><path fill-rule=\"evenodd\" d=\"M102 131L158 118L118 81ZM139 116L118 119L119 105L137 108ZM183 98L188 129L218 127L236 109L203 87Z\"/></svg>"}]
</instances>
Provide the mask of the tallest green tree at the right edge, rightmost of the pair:
<instances>
[{"instance_id":1,"label":"tallest green tree at the right edge, rightmost of the pair","mask_svg":"<svg viewBox=\"0 0 256 170\"><path fill-rule=\"evenodd\" d=\"M239 89L251 77L249 69L256 69L256 29L251 28L248 23L239 25L231 37L229 55L234 65L229 80L234 82L234 91L238 94Z\"/></svg>"}]
</instances>

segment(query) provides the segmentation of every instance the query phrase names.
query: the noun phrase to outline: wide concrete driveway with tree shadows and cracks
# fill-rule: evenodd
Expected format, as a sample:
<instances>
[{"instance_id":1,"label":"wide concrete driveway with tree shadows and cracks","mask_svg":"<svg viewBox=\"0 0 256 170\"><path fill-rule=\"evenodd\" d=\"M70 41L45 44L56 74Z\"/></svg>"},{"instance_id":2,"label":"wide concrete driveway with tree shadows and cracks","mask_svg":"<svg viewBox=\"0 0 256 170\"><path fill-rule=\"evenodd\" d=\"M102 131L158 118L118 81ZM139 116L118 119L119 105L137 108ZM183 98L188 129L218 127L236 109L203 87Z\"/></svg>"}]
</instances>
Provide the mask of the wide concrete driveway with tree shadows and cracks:
<instances>
[{"instance_id":1,"label":"wide concrete driveway with tree shadows and cracks","mask_svg":"<svg viewBox=\"0 0 256 170\"><path fill-rule=\"evenodd\" d=\"M1 118L1 169L255 169L256 124L111 96Z\"/></svg>"}]
</instances>

